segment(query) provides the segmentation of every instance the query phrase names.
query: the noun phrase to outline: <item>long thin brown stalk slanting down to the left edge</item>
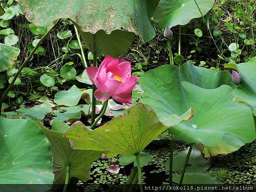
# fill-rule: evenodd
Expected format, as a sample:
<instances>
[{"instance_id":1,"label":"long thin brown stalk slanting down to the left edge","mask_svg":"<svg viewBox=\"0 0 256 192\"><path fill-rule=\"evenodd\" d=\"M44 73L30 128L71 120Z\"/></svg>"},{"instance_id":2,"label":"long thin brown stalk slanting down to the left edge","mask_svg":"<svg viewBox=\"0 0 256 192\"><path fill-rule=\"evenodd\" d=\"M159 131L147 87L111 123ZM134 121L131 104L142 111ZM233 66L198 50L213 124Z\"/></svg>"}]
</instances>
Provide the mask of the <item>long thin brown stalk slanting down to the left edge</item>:
<instances>
[{"instance_id":1,"label":"long thin brown stalk slanting down to the left edge","mask_svg":"<svg viewBox=\"0 0 256 192\"><path fill-rule=\"evenodd\" d=\"M58 22L57 22L58 23ZM50 34L50 32L54 29L54 27L56 26L56 24L51 28L48 29L47 32L43 35L43 37L41 37L41 39L38 41L38 43L36 44L35 48L32 50L32 52L29 54L29 56L26 58L26 60L23 62L23 64L20 66L19 70L17 71L17 73L15 74L14 78L12 79L12 82L9 84L9 86L7 87L6 91L3 93L3 96L0 99L0 109L2 108L2 104L3 104L3 100L6 98L7 94L9 93L9 91L12 89L12 86L14 85L17 77L20 75L20 72L23 70L23 68L26 66L26 64L32 59L35 51L38 49L38 47L40 46L40 44L44 41L45 38L48 37L48 35ZM1 115L1 110L0 110L0 115Z\"/></svg>"}]
</instances>

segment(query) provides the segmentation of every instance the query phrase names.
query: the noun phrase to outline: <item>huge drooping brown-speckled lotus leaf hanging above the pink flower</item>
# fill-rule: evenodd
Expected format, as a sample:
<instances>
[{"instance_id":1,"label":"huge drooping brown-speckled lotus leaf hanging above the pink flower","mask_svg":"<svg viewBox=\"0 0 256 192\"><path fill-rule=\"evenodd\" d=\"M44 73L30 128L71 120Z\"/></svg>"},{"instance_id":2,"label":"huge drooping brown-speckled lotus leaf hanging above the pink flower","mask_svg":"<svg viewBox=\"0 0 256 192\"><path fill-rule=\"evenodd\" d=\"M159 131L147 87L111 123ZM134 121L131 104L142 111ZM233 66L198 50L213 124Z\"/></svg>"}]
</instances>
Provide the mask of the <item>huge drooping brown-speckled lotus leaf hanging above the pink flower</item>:
<instances>
[{"instance_id":1,"label":"huge drooping brown-speckled lotus leaf hanging above the pink flower","mask_svg":"<svg viewBox=\"0 0 256 192\"><path fill-rule=\"evenodd\" d=\"M156 0L21 0L19 4L26 18L38 26L49 28L56 19L70 18L90 51L103 55L122 55L134 34L144 42L155 35L148 14L152 15Z\"/></svg>"}]
</instances>

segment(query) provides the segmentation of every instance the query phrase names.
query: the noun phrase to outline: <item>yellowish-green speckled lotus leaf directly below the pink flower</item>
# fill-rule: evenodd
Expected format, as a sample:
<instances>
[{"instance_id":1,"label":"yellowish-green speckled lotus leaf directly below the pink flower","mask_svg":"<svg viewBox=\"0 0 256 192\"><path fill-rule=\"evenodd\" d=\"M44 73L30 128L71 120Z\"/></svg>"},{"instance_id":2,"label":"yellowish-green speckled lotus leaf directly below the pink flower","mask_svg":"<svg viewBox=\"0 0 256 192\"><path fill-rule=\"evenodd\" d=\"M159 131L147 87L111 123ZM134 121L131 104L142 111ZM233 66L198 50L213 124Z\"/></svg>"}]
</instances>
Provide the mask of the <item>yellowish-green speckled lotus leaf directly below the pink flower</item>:
<instances>
[{"instance_id":1,"label":"yellowish-green speckled lotus leaf directly below the pink flower","mask_svg":"<svg viewBox=\"0 0 256 192\"><path fill-rule=\"evenodd\" d=\"M191 114L191 109L188 113ZM173 115L169 125L177 125L186 119L187 113L181 117ZM75 122L64 137L69 137L71 146L76 149L136 155L166 129L168 127L159 121L152 108L139 104L94 131Z\"/></svg>"}]
</instances>

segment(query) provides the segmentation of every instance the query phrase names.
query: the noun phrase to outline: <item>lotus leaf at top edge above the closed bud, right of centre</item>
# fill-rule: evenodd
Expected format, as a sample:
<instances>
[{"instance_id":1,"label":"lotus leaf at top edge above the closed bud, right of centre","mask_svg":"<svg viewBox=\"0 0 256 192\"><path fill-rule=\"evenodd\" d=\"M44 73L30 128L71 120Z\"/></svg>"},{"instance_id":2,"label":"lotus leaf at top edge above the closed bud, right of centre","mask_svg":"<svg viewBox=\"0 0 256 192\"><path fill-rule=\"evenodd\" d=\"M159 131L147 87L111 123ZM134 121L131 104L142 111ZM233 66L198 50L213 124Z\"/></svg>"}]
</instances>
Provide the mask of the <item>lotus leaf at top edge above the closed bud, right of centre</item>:
<instances>
[{"instance_id":1,"label":"lotus leaf at top edge above the closed bud, right of centre","mask_svg":"<svg viewBox=\"0 0 256 192\"><path fill-rule=\"evenodd\" d=\"M196 0L203 15L212 8L214 0ZM201 17L195 0L160 0L154 13L154 20L165 29L186 25L190 20Z\"/></svg>"}]
</instances>

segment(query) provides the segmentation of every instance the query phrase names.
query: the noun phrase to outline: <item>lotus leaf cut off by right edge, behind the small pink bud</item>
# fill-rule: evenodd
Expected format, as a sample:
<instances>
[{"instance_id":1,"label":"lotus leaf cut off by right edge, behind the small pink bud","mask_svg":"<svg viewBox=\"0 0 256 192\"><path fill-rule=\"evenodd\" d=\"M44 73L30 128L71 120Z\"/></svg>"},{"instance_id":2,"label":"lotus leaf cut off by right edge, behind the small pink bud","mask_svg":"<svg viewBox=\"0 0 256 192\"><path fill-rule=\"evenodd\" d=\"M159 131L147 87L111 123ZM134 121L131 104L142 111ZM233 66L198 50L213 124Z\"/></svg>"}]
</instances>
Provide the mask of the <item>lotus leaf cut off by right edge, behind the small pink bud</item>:
<instances>
[{"instance_id":1,"label":"lotus leaf cut off by right edge, behind the small pink bud","mask_svg":"<svg viewBox=\"0 0 256 192\"><path fill-rule=\"evenodd\" d=\"M247 63L225 65L239 71L241 82L233 91L235 102L246 102L256 116L256 57Z\"/></svg>"}]
</instances>

